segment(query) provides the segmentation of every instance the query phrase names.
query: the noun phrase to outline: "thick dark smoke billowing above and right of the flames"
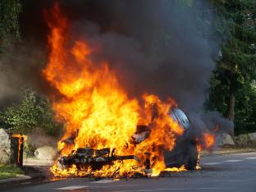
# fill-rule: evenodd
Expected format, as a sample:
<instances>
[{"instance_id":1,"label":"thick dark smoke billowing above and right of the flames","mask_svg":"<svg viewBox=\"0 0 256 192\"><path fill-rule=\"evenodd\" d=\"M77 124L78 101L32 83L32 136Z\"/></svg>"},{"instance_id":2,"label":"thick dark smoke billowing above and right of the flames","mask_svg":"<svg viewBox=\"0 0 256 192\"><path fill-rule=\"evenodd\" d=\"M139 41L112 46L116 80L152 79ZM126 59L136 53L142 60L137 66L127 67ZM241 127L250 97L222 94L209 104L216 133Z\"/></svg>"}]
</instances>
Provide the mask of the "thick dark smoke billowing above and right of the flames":
<instances>
[{"instance_id":1,"label":"thick dark smoke billowing above and right of the flames","mask_svg":"<svg viewBox=\"0 0 256 192\"><path fill-rule=\"evenodd\" d=\"M196 2L196 3L195 3ZM117 70L131 96L171 96L186 111L200 111L214 68L205 1L62 1L72 32L102 46L100 57ZM78 8L79 7L79 8ZM74 10L74 11L72 11Z\"/></svg>"}]
</instances>

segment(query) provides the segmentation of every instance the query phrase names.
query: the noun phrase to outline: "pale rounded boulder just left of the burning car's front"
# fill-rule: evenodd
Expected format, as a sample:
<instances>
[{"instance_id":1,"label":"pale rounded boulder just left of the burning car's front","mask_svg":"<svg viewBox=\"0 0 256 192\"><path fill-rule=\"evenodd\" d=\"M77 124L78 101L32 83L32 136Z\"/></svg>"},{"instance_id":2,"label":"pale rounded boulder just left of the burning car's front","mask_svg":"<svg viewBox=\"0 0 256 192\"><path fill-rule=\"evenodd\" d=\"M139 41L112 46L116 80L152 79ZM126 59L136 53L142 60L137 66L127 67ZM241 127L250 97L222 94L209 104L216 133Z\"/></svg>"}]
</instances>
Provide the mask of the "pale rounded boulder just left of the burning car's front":
<instances>
[{"instance_id":1,"label":"pale rounded boulder just left of the burning car's front","mask_svg":"<svg viewBox=\"0 0 256 192\"><path fill-rule=\"evenodd\" d=\"M35 150L34 156L40 160L54 160L57 157L57 150L51 146L44 145Z\"/></svg>"}]
</instances>

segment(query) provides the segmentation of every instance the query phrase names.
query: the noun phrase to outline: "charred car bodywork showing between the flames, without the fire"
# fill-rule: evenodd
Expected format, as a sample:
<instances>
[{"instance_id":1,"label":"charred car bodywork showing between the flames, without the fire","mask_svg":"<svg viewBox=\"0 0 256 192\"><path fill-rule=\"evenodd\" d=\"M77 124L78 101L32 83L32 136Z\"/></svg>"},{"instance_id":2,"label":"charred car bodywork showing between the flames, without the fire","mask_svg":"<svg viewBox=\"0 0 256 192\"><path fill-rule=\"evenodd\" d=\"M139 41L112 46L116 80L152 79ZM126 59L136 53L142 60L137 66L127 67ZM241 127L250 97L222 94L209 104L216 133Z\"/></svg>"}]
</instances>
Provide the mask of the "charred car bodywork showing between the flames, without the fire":
<instances>
[{"instance_id":1,"label":"charred car bodywork showing between the flames, without the fire","mask_svg":"<svg viewBox=\"0 0 256 192\"><path fill-rule=\"evenodd\" d=\"M185 113L177 107L171 108L170 117L183 127L184 134L176 138L176 145L174 149L171 151L164 151L164 162L166 167L181 167L184 165L187 170L192 170L196 167L198 162L196 142L195 139L190 137L190 132L193 132L194 128L191 125L188 117L186 117ZM135 134L131 136L131 142L134 144L139 144L147 139L149 135L150 126L139 125L137 126L137 131ZM72 139L67 140L71 142L70 140ZM66 142L66 139L63 142ZM123 161L128 159L135 159L137 162L143 162L144 164L149 162L146 167L147 169L150 168L149 158L139 159L135 155L119 156L115 154L115 149L111 151L109 148L91 149L88 147L76 149L68 156L58 158L57 167L63 170L66 167L75 165L81 169L83 167L91 167L93 170L98 170L105 165L112 165L115 161Z\"/></svg>"}]
</instances>

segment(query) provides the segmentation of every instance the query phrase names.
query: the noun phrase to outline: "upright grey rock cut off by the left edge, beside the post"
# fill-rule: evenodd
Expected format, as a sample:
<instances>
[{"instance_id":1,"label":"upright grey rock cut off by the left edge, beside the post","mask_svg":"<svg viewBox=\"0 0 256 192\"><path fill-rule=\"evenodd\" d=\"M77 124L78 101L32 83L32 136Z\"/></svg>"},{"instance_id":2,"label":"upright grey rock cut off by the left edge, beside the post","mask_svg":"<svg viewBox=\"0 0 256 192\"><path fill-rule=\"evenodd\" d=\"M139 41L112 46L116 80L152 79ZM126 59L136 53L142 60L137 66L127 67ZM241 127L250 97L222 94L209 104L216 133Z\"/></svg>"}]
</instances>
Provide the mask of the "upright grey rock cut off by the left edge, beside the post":
<instances>
[{"instance_id":1,"label":"upright grey rock cut off by the left edge, beside the post","mask_svg":"<svg viewBox=\"0 0 256 192\"><path fill-rule=\"evenodd\" d=\"M0 129L0 163L11 161L11 140L10 136L3 129Z\"/></svg>"}]
</instances>

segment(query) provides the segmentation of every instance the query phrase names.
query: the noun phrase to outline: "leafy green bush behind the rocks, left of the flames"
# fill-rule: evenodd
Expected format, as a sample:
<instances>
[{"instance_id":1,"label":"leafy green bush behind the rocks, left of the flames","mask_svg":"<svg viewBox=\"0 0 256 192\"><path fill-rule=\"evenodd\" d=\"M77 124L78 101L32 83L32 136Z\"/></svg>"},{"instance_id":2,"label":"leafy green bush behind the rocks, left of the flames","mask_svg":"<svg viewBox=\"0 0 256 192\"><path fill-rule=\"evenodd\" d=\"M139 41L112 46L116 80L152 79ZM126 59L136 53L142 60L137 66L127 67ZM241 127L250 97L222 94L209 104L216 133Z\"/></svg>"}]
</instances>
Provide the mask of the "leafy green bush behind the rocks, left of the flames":
<instances>
[{"instance_id":1,"label":"leafy green bush behind the rocks, left of the flames","mask_svg":"<svg viewBox=\"0 0 256 192\"><path fill-rule=\"evenodd\" d=\"M21 103L7 107L1 113L1 120L8 130L28 134L34 128L40 128L47 135L57 135L61 125L53 120L53 111L48 99L25 90L21 94Z\"/></svg>"}]
</instances>

